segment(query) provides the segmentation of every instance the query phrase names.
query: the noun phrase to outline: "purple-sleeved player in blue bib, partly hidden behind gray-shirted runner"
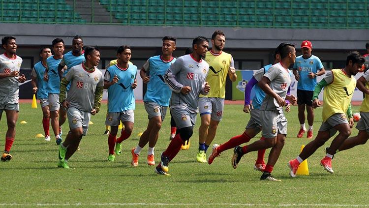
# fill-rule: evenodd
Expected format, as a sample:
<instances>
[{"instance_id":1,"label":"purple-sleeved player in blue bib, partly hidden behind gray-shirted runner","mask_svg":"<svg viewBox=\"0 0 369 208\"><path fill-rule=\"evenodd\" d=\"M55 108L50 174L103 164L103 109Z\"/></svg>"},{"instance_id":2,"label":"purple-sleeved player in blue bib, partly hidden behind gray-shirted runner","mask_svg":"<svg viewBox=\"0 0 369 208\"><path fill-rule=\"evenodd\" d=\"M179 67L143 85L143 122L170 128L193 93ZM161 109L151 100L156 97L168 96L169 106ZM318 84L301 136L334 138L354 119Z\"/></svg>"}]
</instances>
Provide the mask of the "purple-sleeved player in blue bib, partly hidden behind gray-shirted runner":
<instances>
[{"instance_id":1,"label":"purple-sleeved player in blue bib, partly hidden behind gray-shirted runner","mask_svg":"<svg viewBox=\"0 0 369 208\"><path fill-rule=\"evenodd\" d=\"M276 48L274 53L274 64L280 61L279 48ZM261 122L260 122L260 106L264 100L265 93L259 86L257 86L258 82L263 78L263 75L269 70L272 64L266 65L263 68L256 71L252 78L248 81L245 88L245 105L244 112L250 113L250 119L246 125L246 129L243 134L232 137L229 141L222 145L214 145L213 152L209 156L208 163L209 165L213 163L215 157L219 156L221 152L235 148L243 143L249 142L252 138L254 138L261 131ZM252 100L252 105L250 104L250 94L251 89L255 86L255 96ZM289 91L287 91L289 94ZM290 110L289 101L286 100L287 107L286 111ZM261 140L265 140L264 137L260 138ZM255 170L264 171L265 162L264 162L264 154L266 149L259 149L257 153L257 160L254 165Z\"/></svg>"}]
</instances>

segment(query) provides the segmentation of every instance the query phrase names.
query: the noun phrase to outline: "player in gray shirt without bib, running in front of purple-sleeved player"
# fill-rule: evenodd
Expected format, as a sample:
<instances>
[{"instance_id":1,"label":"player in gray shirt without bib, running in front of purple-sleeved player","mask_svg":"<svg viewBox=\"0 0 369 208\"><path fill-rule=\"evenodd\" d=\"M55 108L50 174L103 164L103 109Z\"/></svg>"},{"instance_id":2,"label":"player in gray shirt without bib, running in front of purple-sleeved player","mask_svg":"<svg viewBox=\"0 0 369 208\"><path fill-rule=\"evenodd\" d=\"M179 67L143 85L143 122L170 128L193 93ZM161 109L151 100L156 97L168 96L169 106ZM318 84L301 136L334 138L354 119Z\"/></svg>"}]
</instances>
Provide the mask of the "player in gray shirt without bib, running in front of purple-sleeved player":
<instances>
[{"instance_id":1,"label":"player in gray shirt without bib, running in front of purple-sleeved player","mask_svg":"<svg viewBox=\"0 0 369 208\"><path fill-rule=\"evenodd\" d=\"M236 147L232 157L232 166L237 168L242 156L250 151L272 148L269 153L267 165L261 176L261 180L280 181L271 173L276 164L280 152L284 146L287 135L287 119L283 113L286 106L285 99L294 101L293 95L287 95L287 89L291 84L291 76L288 66L296 59L295 47L289 43L282 43L280 47L281 61L269 68L259 81L259 87L265 92L265 98L260 106L260 121L264 140L255 141L244 147Z\"/></svg>"}]
</instances>

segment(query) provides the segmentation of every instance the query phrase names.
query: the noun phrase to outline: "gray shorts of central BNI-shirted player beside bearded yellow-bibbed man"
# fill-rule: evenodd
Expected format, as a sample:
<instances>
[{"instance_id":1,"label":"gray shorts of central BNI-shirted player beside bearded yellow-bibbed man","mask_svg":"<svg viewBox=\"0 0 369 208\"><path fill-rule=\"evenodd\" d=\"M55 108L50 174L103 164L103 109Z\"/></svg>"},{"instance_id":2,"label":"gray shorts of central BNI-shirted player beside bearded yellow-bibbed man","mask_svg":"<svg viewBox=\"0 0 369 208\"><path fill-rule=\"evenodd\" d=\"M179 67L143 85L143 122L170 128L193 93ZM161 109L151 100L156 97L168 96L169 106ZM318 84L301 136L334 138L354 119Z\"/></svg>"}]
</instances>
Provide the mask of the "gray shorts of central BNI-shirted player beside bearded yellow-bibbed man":
<instances>
[{"instance_id":1,"label":"gray shorts of central BNI-shirted player beside bearded yellow-bibbed man","mask_svg":"<svg viewBox=\"0 0 369 208\"><path fill-rule=\"evenodd\" d=\"M190 112L188 109L184 108L171 108L170 113L172 118L176 122L177 128L185 128L194 126L196 123L196 113Z\"/></svg>"}]
</instances>

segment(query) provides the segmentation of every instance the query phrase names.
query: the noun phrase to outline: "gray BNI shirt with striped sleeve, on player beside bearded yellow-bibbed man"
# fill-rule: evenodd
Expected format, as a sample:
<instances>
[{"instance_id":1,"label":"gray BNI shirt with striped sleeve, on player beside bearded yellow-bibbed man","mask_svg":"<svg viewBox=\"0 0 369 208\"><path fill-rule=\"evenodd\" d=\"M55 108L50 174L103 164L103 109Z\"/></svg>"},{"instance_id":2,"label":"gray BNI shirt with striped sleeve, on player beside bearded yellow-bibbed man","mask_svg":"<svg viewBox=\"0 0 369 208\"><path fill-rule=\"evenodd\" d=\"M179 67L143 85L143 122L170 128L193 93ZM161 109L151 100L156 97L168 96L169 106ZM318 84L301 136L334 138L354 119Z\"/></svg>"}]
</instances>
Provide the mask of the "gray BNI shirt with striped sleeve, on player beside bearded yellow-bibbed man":
<instances>
[{"instance_id":1,"label":"gray BNI shirt with striped sleeve, on player beside bearded yellow-bibbed man","mask_svg":"<svg viewBox=\"0 0 369 208\"><path fill-rule=\"evenodd\" d=\"M209 64L205 60L201 59L200 62L197 62L190 54L178 58L164 76L165 82L173 90L170 106L188 108L193 113L197 113L200 93L207 94L204 87L208 71ZM188 94L181 93L184 86L191 87Z\"/></svg>"}]
</instances>

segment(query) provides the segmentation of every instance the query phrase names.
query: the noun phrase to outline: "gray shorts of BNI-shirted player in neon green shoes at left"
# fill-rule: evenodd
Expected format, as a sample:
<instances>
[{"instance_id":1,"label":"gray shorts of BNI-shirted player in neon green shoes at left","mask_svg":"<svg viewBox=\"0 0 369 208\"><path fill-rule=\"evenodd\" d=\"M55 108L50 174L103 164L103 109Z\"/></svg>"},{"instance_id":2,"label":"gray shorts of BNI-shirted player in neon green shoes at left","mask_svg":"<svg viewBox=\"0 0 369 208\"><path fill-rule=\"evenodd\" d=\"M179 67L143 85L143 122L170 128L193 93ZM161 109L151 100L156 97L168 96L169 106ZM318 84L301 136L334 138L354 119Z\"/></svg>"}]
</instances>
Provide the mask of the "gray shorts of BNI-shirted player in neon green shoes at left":
<instances>
[{"instance_id":1,"label":"gray shorts of BNI-shirted player in neon green shoes at left","mask_svg":"<svg viewBox=\"0 0 369 208\"><path fill-rule=\"evenodd\" d=\"M69 107L66 110L66 114L69 121L69 128L75 129L82 127L83 135L86 136L87 130L89 128L89 122L91 119L91 113L78 110L73 107Z\"/></svg>"}]
</instances>

